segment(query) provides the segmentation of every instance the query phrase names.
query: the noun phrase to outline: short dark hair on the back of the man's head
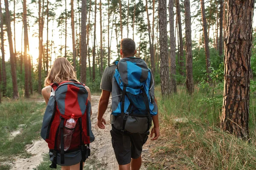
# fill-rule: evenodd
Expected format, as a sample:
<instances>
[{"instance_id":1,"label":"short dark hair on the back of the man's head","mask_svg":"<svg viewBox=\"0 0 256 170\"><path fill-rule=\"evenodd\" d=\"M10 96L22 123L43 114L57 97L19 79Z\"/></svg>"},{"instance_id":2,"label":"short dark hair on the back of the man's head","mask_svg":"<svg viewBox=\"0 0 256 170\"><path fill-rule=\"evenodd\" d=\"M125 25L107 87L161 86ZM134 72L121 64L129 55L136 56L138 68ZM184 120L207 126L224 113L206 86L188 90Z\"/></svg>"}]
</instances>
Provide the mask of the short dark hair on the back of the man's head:
<instances>
[{"instance_id":1,"label":"short dark hair on the back of the man's head","mask_svg":"<svg viewBox=\"0 0 256 170\"><path fill-rule=\"evenodd\" d=\"M124 55L133 55L136 50L136 44L131 38L123 38L121 40L121 49Z\"/></svg>"}]
</instances>

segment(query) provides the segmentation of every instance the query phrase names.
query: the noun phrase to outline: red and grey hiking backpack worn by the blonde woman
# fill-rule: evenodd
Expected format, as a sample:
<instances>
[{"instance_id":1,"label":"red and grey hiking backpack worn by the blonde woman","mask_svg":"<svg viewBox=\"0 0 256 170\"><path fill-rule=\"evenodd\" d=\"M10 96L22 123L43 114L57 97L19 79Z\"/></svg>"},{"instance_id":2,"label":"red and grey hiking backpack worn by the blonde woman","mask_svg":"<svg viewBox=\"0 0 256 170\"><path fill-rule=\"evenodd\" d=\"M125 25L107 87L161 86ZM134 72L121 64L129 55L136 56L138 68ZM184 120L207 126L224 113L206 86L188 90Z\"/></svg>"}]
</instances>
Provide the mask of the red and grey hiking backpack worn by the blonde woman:
<instances>
[{"instance_id":1,"label":"red and grey hiking backpack worn by the blonde woman","mask_svg":"<svg viewBox=\"0 0 256 170\"><path fill-rule=\"evenodd\" d=\"M50 85L55 95L50 96L41 128L41 136L49 147L52 161L50 167L56 168L57 164L71 166L80 162L80 170L82 170L83 161L90 156L89 144L94 141L88 92L84 84L75 80ZM70 147L64 151L64 126L72 113L75 114L76 127Z\"/></svg>"}]
</instances>

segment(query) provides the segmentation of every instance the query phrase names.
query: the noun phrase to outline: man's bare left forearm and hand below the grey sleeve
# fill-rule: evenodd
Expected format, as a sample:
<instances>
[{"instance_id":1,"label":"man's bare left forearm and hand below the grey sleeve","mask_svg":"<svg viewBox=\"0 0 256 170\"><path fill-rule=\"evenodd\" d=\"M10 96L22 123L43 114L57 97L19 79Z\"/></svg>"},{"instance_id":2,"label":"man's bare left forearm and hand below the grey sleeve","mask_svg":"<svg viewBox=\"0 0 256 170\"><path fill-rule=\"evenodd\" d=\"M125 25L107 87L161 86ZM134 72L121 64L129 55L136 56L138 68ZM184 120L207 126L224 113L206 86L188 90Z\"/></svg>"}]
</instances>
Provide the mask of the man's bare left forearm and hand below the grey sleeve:
<instances>
[{"instance_id":1,"label":"man's bare left forearm and hand below the grey sleeve","mask_svg":"<svg viewBox=\"0 0 256 170\"><path fill-rule=\"evenodd\" d=\"M102 90L102 94L101 94L100 99L99 99L99 109L98 109L98 122L97 122L97 125L101 129L105 129L106 121L103 118L103 115L104 115L105 111L108 108L108 101L109 101L110 94L111 94L110 91ZM105 125L103 124L103 122L104 122Z\"/></svg>"}]
</instances>

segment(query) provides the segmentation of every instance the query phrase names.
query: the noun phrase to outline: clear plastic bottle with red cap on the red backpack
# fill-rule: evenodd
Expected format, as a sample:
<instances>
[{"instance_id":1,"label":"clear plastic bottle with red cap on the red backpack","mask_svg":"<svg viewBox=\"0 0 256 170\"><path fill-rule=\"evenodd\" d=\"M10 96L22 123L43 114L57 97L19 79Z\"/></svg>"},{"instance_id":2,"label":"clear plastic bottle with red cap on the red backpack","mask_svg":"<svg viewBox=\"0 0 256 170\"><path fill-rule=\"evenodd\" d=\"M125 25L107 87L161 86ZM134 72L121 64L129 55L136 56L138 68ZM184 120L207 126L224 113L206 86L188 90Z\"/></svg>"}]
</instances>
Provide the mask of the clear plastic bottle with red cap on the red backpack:
<instances>
[{"instance_id":1,"label":"clear plastic bottle with red cap on the red backpack","mask_svg":"<svg viewBox=\"0 0 256 170\"><path fill-rule=\"evenodd\" d=\"M64 151L67 151L70 147L72 134L74 132L74 128L76 127L75 114L71 115L71 118L67 120L66 125L64 127Z\"/></svg>"}]
</instances>

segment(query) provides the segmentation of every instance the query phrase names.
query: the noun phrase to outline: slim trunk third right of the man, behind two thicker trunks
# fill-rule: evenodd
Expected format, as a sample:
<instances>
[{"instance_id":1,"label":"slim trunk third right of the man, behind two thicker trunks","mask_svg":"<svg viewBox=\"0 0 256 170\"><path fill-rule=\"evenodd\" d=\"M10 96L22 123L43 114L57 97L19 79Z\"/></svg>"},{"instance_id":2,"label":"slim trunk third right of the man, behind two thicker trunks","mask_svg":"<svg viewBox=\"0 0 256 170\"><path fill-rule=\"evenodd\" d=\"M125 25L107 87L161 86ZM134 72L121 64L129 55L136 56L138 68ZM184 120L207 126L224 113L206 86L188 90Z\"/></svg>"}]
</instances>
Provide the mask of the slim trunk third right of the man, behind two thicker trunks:
<instances>
[{"instance_id":1,"label":"slim trunk third right of the man, behind two thicker trunks","mask_svg":"<svg viewBox=\"0 0 256 170\"><path fill-rule=\"evenodd\" d=\"M180 75L184 76L184 51L183 51L183 38L182 38L182 27L181 27L181 17L180 17L180 0L176 0L176 15L178 21L179 28L179 42L180 42L180 57L179 57L179 65L180 65Z\"/></svg>"}]
</instances>

